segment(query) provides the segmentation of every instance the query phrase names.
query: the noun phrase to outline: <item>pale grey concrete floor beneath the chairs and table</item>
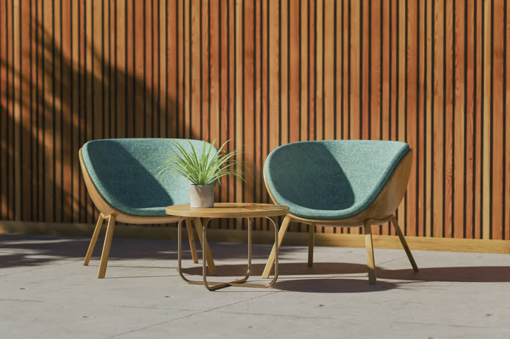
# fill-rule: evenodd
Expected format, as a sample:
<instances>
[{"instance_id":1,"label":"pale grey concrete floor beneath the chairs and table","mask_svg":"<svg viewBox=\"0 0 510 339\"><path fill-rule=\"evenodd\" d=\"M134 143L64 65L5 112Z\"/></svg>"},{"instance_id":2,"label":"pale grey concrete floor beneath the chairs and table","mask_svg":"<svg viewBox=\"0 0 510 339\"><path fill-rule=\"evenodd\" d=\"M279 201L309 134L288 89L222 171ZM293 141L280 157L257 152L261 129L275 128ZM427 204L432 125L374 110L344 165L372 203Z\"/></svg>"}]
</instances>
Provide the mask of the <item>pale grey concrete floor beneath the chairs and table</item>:
<instances>
[{"instance_id":1,"label":"pale grey concrete floor beneath the chairs and table","mask_svg":"<svg viewBox=\"0 0 510 339\"><path fill-rule=\"evenodd\" d=\"M0 234L0 337L510 338L510 255L414 250L415 274L404 250L376 249L370 285L363 248L316 247L309 269L284 246L273 288L209 292L182 281L175 241L114 238L96 279L101 241L84 267L89 238ZM220 276L242 275L245 244L211 250ZM254 245L254 275L269 250Z\"/></svg>"}]
</instances>

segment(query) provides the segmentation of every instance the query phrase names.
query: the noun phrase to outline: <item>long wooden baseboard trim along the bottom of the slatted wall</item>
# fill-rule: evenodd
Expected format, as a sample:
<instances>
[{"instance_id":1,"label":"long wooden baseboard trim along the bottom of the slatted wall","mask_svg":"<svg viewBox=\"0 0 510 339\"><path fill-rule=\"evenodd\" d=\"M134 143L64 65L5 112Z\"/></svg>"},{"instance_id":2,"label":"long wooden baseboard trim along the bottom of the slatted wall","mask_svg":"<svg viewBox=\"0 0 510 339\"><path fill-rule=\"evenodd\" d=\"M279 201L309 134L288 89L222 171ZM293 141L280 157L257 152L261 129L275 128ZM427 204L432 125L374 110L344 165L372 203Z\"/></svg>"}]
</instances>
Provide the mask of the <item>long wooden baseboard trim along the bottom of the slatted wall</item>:
<instances>
[{"instance_id":1,"label":"long wooden baseboard trim along the bottom of the slatted wall","mask_svg":"<svg viewBox=\"0 0 510 339\"><path fill-rule=\"evenodd\" d=\"M106 229L106 226L103 228ZM0 220L0 233L50 234L58 236L92 236L93 224L70 224L49 222L13 222ZM177 227L173 226L133 226L116 225L115 236L135 238L177 239ZM247 233L238 230L211 229L209 241L242 243L247 241ZM254 243L273 243L273 232L254 231ZM510 241L459 238L430 238L406 236L411 250L439 250L452 252L485 252L510 254ZM308 233L287 232L284 244L308 245ZM317 246L365 247L363 234L316 234ZM374 248L402 248L397 236L373 236Z\"/></svg>"}]
</instances>

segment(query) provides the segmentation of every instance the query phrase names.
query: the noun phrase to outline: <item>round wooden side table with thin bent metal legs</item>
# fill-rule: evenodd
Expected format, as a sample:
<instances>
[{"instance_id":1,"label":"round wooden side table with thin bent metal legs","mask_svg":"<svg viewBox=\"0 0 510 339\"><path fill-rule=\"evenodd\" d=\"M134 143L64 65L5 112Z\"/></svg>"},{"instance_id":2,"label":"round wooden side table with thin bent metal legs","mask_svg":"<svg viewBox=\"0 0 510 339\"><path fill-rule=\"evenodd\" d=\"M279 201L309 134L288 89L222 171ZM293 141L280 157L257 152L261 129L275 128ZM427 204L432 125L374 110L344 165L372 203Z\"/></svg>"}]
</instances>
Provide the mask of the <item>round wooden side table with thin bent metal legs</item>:
<instances>
[{"instance_id":1,"label":"round wooden side table with thin bent metal legs","mask_svg":"<svg viewBox=\"0 0 510 339\"><path fill-rule=\"evenodd\" d=\"M244 287L259 287L267 288L273 286L278 279L278 227L272 217L280 217L287 215L289 207L273 205L273 204L259 204L259 203L215 203L212 208L192 208L187 205L173 205L166 207L167 215L175 215L180 217L178 224L178 271L182 279L187 283L204 285L208 290L216 290L226 286L244 286ZM273 224L275 231L275 276L270 283L259 284L259 283L247 283L251 274L251 222L250 218L266 218ZM202 250L202 278L203 281L192 281L187 279L182 273L181 261L182 261L182 248L181 248L181 229L182 220L189 218L204 218L204 227L202 229L202 243L207 243L207 225L211 219L219 218L246 218L248 221L248 269L247 274L242 279L230 281L227 283L219 282L208 282L207 281L207 260L206 250ZM213 285L210 285L213 284Z\"/></svg>"}]
</instances>

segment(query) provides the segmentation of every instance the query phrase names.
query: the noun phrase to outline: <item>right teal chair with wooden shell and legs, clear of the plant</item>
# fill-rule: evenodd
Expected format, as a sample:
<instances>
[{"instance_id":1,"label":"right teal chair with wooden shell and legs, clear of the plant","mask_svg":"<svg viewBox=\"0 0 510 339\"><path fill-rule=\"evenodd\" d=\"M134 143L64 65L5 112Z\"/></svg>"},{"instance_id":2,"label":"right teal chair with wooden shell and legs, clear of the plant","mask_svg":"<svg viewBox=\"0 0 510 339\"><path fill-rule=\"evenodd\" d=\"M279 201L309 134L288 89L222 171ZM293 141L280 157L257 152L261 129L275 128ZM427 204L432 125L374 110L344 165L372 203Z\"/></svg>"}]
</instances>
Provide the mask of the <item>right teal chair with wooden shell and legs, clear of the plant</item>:
<instances>
[{"instance_id":1,"label":"right teal chair with wooden shell and legs, clear of the plant","mask_svg":"<svg viewBox=\"0 0 510 339\"><path fill-rule=\"evenodd\" d=\"M316 225L363 226L368 280L376 283L371 225L391 221L418 271L393 215L406 192L411 164L411 148L398 141L301 141L275 148L264 164L264 181L273 202L290 207L280 226L278 246L290 222L309 224L311 266ZM274 247L263 278L273 267Z\"/></svg>"}]
</instances>

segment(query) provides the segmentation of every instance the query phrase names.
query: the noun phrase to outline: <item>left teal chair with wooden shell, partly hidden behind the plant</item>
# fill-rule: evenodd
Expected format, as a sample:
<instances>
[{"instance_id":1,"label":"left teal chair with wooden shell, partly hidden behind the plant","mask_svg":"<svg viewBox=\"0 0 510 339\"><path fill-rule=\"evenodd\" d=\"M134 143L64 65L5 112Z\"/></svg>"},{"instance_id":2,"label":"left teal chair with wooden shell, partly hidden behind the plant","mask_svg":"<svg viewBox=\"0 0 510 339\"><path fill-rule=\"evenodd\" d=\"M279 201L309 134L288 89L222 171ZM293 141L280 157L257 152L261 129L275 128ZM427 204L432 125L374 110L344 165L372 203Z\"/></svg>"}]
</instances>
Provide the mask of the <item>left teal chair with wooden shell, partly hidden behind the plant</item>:
<instances>
[{"instance_id":1,"label":"left teal chair with wooden shell, partly hidden behind the plant","mask_svg":"<svg viewBox=\"0 0 510 339\"><path fill-rule=\"evenodd\" d=\"M83 262L85 266L92 257L103 222L108 220L98 278L104 278L106 274L116 222L178 222L178 218L166 215L166 206L189 203L189 182L185 178L172 174L163 177L158 175L160 166L168 160L168 154L173 147L169 141L178 142L186 150L191 150L185 139L104 139L88 141L80 148L80 166L85 186L99 210L99 218ZM201 152L203 141L190 141L197 152ZM209 143L206 145L209 148ZM206 251L210 274L216 275L209 245L202 243L200 219L193 221L202 248ZM192 220L186 219L186 225L192 258L194 262L198 262Z\"/></svg>"}]
</instances>

